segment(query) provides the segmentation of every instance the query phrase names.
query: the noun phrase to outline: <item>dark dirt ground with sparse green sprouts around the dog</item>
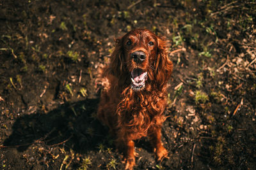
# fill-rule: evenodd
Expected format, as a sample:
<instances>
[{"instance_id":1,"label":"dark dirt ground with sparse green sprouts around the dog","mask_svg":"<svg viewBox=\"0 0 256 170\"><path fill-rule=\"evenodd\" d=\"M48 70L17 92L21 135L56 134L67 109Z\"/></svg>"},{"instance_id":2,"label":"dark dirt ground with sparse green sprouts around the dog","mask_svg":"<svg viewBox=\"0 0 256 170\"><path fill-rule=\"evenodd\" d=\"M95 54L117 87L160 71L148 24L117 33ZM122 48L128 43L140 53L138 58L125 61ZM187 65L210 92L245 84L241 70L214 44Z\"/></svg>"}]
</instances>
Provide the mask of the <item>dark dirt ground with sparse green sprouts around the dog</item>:
<instances>
[{"instance_id":1,"label":"dark dirt ground with sparse green sprouts around the dog","mask_svg":"<svg viewBox=\"0 0 256 170\"><path fill-rule=\"evenodd\" d=\"M170 159L134 169L255 169L255 1L0 1L0 169L124 169L96 118L113 38L147 28L174 64Z\"/></svg>"}]
</instances>

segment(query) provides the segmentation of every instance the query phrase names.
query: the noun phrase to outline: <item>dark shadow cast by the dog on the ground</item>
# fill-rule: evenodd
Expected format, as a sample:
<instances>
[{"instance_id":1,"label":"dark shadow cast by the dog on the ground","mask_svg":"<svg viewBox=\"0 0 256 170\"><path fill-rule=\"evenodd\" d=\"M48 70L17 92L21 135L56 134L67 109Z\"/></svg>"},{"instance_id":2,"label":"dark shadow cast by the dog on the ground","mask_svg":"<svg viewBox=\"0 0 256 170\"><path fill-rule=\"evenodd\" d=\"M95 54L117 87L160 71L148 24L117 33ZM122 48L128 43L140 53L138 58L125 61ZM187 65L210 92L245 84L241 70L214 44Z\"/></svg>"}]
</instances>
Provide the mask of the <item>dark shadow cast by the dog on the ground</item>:
<instances>
[{"instance_id":1,"label":"dark shadow cast by the dog on the ground","mask_svg":"<svg viewBox=\"0 0 256 170\"><path fill-rule=\"evenodd\" d=\"M99 99L86 99L63 104L49 113L21 116L13 124L4 146L16 147L19 152L35 143L66 145L79 153L95 150L108 134L97 120L98 103Z\"/></svg>"}]
</instances>

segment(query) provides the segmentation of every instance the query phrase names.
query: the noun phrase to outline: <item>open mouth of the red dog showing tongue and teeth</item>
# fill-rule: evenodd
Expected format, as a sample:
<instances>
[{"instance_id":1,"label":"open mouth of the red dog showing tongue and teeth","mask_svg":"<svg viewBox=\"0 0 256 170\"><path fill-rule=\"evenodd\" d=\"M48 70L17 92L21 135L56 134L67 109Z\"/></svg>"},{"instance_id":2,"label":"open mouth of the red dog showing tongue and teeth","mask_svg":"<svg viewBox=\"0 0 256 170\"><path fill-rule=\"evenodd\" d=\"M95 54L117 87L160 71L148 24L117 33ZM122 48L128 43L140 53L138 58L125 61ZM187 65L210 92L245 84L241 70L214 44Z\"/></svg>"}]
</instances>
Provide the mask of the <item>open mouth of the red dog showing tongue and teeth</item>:
<instances>
[{"instance_id":1,"label":"open mouth of the red dog showing tongue and teeth","mask_svg":"<svg viewBox=\"0 0 256 170\"><path fill-rule=\"evenodd\" d=\"M145 87L145 81L147 80L147 72L144 72L140 68L133 69L131 72L131 88L134 91L142 90Z\"/></svg>"}]
</instances>

